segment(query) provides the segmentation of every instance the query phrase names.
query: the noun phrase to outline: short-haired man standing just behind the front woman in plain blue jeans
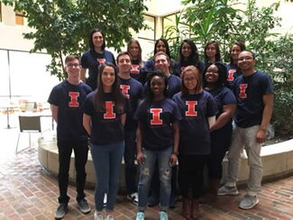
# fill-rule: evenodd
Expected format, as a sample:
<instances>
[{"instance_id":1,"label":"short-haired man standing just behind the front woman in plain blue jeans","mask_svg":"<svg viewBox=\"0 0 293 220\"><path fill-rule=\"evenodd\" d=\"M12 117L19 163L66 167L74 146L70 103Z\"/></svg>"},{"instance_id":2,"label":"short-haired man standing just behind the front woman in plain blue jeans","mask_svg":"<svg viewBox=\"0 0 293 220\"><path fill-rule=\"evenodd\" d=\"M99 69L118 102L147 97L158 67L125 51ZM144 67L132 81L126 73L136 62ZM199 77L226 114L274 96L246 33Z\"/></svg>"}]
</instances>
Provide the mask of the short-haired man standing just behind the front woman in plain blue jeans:
<instances>
[{"instance_id":1,"label":"short-haired man standing just behind the front woman in plain blue jeans","mask_svg":"<svg viewBox=\"0 0 293 220\"><path fill-rule=\"evenodd\" d=\"M136 129L137 122L133 119L137 105L143 96L142 83L131 77L132 61L128 52L121 52L117 56L118 78L120 88L124 96L130 101L130 110L126 114L124 126L125 137L125 181L127 198L138 203L137 194L137 167L134 163L136 158Z\"/></svg>"}]
</instances>

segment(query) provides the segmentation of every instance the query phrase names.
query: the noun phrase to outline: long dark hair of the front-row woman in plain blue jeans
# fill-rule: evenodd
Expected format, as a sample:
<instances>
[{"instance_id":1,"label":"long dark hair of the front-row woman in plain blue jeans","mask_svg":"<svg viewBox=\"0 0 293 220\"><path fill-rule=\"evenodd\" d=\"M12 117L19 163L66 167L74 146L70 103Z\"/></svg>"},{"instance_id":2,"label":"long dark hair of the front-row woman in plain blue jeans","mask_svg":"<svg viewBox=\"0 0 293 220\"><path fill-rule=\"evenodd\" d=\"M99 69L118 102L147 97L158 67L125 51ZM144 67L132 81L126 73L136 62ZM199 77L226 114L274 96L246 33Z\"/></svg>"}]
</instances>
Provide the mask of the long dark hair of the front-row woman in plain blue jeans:
<instances>
[{"instance_id":1,"label":"long dark hair of the front-row woman in plain blue jeans","mask_svg":"<svg viewBox=\"0 0 293 220\"><path fill-rule=\"evenodd\" d=\"M117 69L115 68L114 64L109 62L105 62L105 64L103 64L99 68L99 72L97 75L98 77L97 77L96 93L93 98L95 109L97 112L105 113L105 92L104 92L104 87L102 83L102 74L105 67L111 67L114 69L115 79L112 85L111 93L114 96L114 105L115 105L116 112L118 114L122 114L124 113L124 108L125 108L125 98L119 87Z\"/></svg>"}]
</instances>

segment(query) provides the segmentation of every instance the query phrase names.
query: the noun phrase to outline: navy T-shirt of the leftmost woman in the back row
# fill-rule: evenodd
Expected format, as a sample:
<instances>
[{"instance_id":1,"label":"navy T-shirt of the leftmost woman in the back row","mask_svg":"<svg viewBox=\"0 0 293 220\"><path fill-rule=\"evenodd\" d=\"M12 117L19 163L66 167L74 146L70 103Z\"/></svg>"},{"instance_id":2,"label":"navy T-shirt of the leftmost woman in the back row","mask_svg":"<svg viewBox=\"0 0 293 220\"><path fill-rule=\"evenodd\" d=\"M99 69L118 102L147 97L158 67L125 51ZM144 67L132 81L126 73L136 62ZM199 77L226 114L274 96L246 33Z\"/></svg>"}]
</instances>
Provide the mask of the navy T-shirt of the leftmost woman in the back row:
<instances>
[{"instance_id":1,"label":"navy T-shirt of the leftmost woman in the back row","mask_svg":"<svg viewBox=\"0 0 293 220\"><path fill-rule=\"evenodd\" d=\"M82 54L80 64L83 69L88 69L87 85L96 89L96 80L98 67L105 62L115 65L115 59L112 52L104 50L103 53L97 53L95 50L87 50Z\"/></svg>"}]
</instances>

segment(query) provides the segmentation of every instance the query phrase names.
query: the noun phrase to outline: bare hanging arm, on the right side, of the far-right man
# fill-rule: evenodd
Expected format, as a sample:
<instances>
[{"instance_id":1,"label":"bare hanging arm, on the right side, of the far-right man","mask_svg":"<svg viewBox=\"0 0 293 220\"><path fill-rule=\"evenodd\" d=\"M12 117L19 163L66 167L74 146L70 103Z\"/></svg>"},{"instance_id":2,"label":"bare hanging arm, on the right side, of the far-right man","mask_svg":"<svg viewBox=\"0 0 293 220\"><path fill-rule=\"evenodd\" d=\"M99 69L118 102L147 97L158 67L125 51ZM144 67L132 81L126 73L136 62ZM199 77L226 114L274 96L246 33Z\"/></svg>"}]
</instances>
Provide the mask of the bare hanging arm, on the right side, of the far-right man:
<instances>
[{"instance_id":1,"label":"bare hanging arm, on the right side, of the far-right man","mask_svg":"<svg viewBox=\"0 0 293 220\"><path fill-rule=\"evenodd\" d=\"M270 124L270 118L272 115L272 110L274 106L274 95L265 94L262 96L263 102L263 111L262 111L262 120L259 131L256 133L256 142L264 142L267 137L267 128Z\"/></svg>"}]
</instances>

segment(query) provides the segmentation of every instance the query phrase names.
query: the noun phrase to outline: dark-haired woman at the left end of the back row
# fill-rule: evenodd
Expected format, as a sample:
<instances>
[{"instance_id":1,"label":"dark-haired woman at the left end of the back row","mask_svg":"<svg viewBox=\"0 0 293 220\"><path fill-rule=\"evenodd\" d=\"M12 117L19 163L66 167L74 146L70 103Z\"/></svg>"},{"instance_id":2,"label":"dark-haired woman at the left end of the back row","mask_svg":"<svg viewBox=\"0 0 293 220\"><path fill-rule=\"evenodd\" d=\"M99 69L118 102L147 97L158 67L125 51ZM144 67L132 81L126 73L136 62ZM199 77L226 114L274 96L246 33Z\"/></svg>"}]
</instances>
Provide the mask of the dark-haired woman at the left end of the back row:
<instances>
[{"instance_id":1,"label":"dark-haired woman at the left end of the back row","mask_svg":"<svg viewBox=\"0 0 293 220\"><path fill-rule=\"evenodd\" d=\"M89 50L81 56L80 79L87 82L87 85L96 89L98 69L105 62L115 65L114 55L109 50L105 50L105 34L99 29L94 29L89 34ZM88 78L86 77L88 69Z\"/></svg>"}]
</instances>

